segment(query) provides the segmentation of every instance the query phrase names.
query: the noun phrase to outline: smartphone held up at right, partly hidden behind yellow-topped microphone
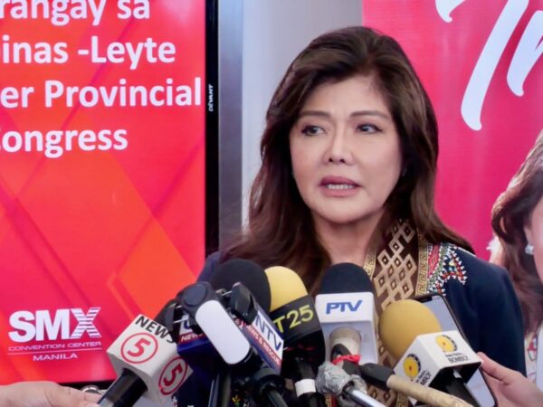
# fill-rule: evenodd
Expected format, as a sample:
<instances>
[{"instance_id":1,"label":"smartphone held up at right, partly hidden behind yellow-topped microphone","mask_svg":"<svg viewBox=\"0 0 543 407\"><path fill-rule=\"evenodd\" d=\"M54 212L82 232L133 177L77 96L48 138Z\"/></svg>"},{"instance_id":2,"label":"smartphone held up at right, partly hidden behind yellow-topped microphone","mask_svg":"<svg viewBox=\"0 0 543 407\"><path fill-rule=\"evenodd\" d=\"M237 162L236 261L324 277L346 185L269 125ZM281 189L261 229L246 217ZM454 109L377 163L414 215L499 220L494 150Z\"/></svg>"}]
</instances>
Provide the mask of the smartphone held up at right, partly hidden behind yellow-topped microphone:
<instances>
[{"instance_id":1,"label":"smartphone held up at right, partly hidden behind yellow-topped microphone","mask_svg":"<svg viewBox=\"0 0 543 407\"><path fill-rule=\"evenodd\" d=\"M452 309L441 294L432 293L424 296L415 297L417 301L424 304L429 308L433 315L437 317L437 320L441 324L443 331L457 330L464 337L460 324L452 314ZM484 378L481 368L479 368L472 378L466 383L466 386L472 393L473 398L479 403L481 407L497 407L496 397L491 392L491 388Z\"/></svg>"}]
</instances>

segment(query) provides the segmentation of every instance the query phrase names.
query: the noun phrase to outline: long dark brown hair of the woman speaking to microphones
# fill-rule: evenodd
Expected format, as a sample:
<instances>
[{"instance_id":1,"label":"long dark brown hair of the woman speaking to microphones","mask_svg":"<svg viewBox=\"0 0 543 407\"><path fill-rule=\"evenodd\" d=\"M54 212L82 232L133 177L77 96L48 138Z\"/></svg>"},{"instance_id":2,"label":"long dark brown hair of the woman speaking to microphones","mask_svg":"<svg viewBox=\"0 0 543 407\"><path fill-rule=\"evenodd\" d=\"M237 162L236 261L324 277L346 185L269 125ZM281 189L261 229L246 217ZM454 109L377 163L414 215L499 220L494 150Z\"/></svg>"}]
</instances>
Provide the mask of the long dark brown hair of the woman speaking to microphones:
<instances>
[{"instance_id":1,"label":"long dark brown hair of the woman speaking to microphones","mask_svg":"<svg viewBox=\"0 0 543 407\"><path fill-rule=\"evenodd\" d=\"M252 184L248 225L226 257L297 270L307 287L329 265L310 210L291 175L289 134L312 90L325 82L371 76L382 92L400 137L405 174L386 201L391 219L414 223L428 241L467 241L449 230L433 207L438 154L433 107L400 45L366 27L320 35L291 63L271 99L262 135L262 166Z\"/></svg>"}]
</instances>

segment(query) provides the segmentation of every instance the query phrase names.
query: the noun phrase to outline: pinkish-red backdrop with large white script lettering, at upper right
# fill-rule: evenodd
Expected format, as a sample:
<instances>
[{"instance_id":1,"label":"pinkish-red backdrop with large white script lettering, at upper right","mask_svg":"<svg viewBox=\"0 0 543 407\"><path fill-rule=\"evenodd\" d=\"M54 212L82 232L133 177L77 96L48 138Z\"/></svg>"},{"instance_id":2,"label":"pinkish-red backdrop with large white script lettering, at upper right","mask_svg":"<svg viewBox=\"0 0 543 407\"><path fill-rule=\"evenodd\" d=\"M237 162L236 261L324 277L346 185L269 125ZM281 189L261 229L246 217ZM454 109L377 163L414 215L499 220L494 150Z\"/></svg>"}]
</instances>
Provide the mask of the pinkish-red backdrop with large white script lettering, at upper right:
<instances>
[{"instance_id":1,"label":"pinkish-red backdrop with large white script lettering, at upper right","mask_svg":"<svg viewBox=\"0 0 543 407\"><path fill-rule=\"evenodd\" d=\"M488 258L492 204L543 128L543 1L365 0L363 13L402 44L433 101L439 213Z\"/></svg>"}]
</instances>

